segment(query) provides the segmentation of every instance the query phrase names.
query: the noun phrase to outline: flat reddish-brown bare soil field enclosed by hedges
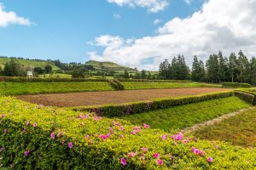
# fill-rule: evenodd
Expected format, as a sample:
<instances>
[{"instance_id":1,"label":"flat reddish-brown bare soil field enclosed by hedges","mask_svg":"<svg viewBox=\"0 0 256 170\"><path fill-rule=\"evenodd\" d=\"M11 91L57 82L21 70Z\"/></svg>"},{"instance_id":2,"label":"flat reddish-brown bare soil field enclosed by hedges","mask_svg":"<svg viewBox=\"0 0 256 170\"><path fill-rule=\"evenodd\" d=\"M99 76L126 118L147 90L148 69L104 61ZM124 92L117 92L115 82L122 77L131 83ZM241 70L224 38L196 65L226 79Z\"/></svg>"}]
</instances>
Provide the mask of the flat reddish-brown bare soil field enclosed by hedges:
<instances>
[{"instance_id":1,"label":"flat reddish-brown bare soil field enclosed by hedges","mask_svg":"<svg viewBox=\"0 0 256 170\"><path fill-rule=\"evenodd\" d=\"M20 95L16 97L40 105L71 107L82 105L122 104L166 97L206 94L225 90L227 90L227 88L168 88L69 94Z\"/></svg>"}]
</instances>

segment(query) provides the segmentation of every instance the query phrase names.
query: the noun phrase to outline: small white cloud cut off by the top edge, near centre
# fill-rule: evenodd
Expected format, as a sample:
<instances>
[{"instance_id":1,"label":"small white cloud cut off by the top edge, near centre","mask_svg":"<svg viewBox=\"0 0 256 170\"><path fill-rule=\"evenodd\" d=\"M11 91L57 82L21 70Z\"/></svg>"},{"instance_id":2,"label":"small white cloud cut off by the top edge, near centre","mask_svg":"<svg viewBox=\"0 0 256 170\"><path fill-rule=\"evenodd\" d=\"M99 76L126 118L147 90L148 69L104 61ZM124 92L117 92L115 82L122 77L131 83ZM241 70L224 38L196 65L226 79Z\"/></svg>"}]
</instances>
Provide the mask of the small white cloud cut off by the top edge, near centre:
<instances>
[{"instance_id":1,"label":"small white cloud cut off by the top edge, near centre","mask_svg":"<svg viewBox=\"0 0 256 170\"><path fill-rule=\"evenodd\" d=\"M116 3L119 6L148 8L150 13L158 13L168 6L168 0L108 0L108 3Z\"/></svg>"}]
</instances>

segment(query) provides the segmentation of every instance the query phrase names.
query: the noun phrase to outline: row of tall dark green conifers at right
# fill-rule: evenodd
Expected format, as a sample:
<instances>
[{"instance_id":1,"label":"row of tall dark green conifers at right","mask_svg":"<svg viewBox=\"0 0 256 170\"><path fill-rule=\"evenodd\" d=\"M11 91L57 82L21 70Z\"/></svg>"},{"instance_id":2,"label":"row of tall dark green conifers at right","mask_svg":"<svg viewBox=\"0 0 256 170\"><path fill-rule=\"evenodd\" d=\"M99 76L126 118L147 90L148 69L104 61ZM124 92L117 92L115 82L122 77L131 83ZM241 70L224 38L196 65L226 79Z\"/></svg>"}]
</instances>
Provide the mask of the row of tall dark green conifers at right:
<instances>
[{"instance_id":1,"label":"row of tall dark green conifers at right","mask_svg":"<svg viewBox=\"0 0 256 170\"><path fill-rule=\"evenodd\" d=\"M247 59L240 51L229 57L222 54L211 54L206 64L197 56L194 57L192 69L186 65L183 55L178 55L169 63L166 59L160 63L160 79L186 80L195 82L247 82L256 84L256 58Z\"/></svg>"}]
</instances>

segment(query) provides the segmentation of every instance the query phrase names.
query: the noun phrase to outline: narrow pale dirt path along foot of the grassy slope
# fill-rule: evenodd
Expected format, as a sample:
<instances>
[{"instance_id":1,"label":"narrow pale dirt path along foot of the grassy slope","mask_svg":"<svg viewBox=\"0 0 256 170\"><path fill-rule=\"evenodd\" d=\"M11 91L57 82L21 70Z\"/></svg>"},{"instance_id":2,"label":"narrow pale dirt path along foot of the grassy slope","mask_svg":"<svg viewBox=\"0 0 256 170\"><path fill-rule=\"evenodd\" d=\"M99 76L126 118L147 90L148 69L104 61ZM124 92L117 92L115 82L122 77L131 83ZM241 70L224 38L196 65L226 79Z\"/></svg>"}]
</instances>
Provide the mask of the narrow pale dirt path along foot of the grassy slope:
<instances>
[{"instance_id":1,"label":"narrow pale dirt path along foot of the grassy slope","mask_svg":"<svg viewBox=\"0 0 256 170\"><path fill-rule=\"evenodd\" d=\"M231 117L231 116L236 116L237 114L240 114L242 111L252 110L253 108L255 108L255 107L251 107L251 108L247 108L247 109L242 109L242 110L240 110L240 111L235 111L235 112L233 112L233 113L226 114L226 115L224 115L224 116L219 116L219 117L217 117L217 118L215 118L215 119L212 119L212 120L210 120L210 121L207 121L207 122L201 122L201 123L195 124L195 125L192 126L192 127L184 128L184 129L181 131L181 133L193 133L193 132L195 132L195 131L198 130L198 129L201 129L201 128L203 128L203 127L210 126L210 125L212 125L212 124L214 124L214 123L221 122L221 121L223 121L223 120L226 119L226 118L229 118L229 117Z\"/></svg>"}]
</instances>

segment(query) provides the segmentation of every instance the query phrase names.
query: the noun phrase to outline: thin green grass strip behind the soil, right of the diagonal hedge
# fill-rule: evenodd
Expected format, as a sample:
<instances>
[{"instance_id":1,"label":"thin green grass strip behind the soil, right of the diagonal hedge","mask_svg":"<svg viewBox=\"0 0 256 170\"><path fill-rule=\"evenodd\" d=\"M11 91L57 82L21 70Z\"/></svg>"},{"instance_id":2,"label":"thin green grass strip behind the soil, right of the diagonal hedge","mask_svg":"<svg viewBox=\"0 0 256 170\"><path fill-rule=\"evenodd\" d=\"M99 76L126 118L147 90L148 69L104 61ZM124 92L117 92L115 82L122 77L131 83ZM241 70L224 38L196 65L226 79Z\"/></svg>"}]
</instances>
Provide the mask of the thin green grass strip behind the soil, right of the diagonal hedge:
<instances>
[{"instance_id":1,"label":"thin green grass strip behind the soil, right of the diagonal hedge","mask_svg":"<svg viewBox=\"0 0 256 170\"><path fill-rule=\"evenodd\" d=\"M148 88L221 88L219 84L207 84L201 82L122 82L125 89L148 89Z\"/></svg>"}]
</instances>

